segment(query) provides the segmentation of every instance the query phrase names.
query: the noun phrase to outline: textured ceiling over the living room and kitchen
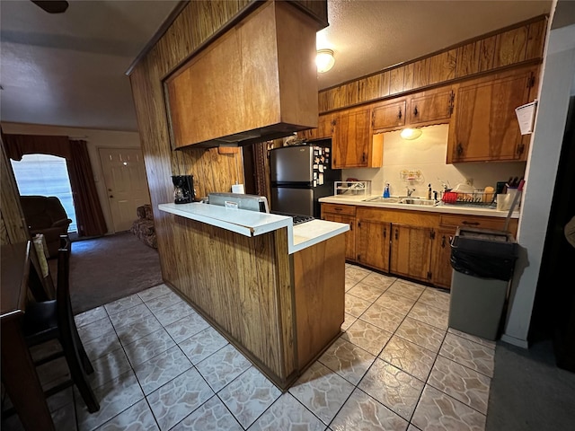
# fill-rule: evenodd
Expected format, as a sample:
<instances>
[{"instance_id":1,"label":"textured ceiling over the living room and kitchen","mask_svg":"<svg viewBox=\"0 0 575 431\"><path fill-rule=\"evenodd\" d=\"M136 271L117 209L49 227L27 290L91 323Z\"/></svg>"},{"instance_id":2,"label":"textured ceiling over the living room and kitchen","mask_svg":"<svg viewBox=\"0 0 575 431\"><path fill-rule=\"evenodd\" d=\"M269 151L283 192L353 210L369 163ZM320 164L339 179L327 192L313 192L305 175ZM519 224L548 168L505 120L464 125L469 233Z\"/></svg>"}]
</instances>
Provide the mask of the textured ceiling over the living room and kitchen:
<instances>
[{"instance_id":1,"label":"textured ceiling over the living room and kitchen","mask_svg":"<svg viewBox=\"0 0 575 431\"><path fill-rule=\"evenodd\" d=\"M3 122L136 131L126 71L179 1L70 1L49 14L0 2ZM552 0L328 0L317 48L335 66L320 89L550 13Z\"/></svg>"}]
</instances>

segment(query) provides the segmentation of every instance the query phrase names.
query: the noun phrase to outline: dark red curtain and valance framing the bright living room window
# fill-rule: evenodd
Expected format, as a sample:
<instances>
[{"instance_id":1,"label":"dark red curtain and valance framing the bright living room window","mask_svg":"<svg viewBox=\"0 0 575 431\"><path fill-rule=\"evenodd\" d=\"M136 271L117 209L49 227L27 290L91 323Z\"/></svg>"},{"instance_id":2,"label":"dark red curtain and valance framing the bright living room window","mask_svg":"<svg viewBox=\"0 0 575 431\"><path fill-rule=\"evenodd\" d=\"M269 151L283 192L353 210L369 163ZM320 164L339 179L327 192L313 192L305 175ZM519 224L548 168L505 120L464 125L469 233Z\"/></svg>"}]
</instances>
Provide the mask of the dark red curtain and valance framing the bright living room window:
<instances>
[{"instance_id":1,"label":"dark red curtain and valance framing the bright living room window","mask_svg":"<svg viewBox=\"0 0 575 431\"><path fill-rule=\"evenodd\" d=\"M78 236L102 236L108 231L85 141L43 135L3 134L2 138L6 154L13 160L22 160L23 154L39 153L66 158Z\"/></svg>"}]
</instances>

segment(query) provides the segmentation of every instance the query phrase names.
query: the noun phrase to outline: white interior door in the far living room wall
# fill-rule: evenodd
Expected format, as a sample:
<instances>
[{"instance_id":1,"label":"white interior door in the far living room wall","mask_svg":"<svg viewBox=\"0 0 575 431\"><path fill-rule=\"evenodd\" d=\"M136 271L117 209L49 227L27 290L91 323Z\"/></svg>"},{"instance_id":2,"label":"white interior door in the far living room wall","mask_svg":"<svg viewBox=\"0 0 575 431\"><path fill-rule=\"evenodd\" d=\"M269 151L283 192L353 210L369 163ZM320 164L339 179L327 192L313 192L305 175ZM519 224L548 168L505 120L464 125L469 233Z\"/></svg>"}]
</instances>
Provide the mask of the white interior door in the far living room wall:
<instances>
[{"instance_id":1,"label":"white interior door in the far living room wall","mask_svg":"<svg viewBox=\"0 0 575 431\"><path fill-rule=\"evenodd\" d=\"M142 152L138 148L99 151L114 232L128 231L137 218L136 208L150 203Z\"/></svg>"}]
</instances>

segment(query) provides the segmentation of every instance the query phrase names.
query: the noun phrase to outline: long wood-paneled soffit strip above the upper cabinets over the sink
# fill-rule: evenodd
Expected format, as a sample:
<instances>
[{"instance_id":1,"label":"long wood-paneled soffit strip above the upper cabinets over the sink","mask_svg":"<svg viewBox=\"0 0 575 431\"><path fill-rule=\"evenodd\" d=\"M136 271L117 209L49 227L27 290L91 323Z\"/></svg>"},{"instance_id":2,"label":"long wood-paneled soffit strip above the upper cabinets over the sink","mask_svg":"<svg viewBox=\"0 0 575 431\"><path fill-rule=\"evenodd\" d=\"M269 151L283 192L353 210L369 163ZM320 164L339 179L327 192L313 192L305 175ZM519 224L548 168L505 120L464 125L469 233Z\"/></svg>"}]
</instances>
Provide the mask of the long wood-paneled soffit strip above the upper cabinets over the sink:
<instances>
[{"instance_id":1,"label":"long wood-paneled soffit strip above the upper cabinets over the sink","mask_svg":"<svg viewBox=\"0 0 575 431\"><path fill-rule=\"evenodd\" d=\"M543 61L548 18L541 15L500 31L319 92L320 113Z\"/></svg>"}]
</instances>

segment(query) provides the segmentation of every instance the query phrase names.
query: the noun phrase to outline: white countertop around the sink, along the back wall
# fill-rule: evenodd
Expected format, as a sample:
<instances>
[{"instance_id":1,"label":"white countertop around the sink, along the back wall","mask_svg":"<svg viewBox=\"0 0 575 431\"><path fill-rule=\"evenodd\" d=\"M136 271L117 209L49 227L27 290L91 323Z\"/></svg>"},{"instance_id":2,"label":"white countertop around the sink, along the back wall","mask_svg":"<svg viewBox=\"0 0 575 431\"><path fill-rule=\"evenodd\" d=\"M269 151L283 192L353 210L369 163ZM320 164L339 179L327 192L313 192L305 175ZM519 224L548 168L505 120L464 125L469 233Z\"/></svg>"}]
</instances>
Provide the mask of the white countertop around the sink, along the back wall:
<instances>
[{"instance_id":1,"label":"white countertop around the sink, along the back wall","mask_svg":"<svg viewBox=\"0 0 575 431\"><path fill-rule=\"evenodd\" d=\"M411 211L428 211L431 213L443 213L443 214L461 214L469 216L491 216L491 217L507 217L509 211L498 211L491 207L482 206L463 206L463 205L449 205L449 204L439 204L434 207L431 205L412 205L412 204L398 204L398 203L387 203L387 202L365 202L365 199L377 198L379 195L370 196L328 196L325 198L320 198L319 201L324 204L341 204L341 205L356 205L360 207L378 207L378 208L394 208L394 209L404 209ZM514 211L511 214L511 218L519 218L519 212Z\"/></svg>"}]
</instances>

